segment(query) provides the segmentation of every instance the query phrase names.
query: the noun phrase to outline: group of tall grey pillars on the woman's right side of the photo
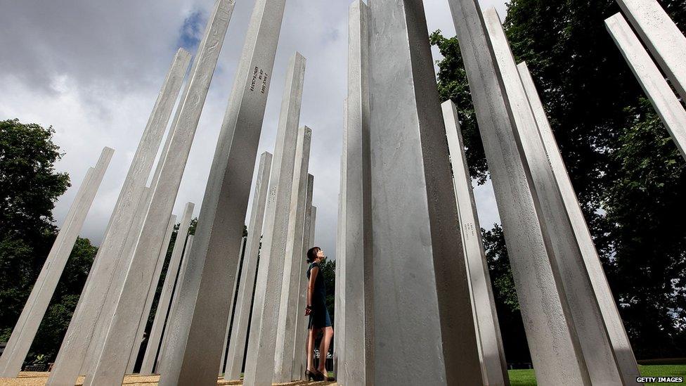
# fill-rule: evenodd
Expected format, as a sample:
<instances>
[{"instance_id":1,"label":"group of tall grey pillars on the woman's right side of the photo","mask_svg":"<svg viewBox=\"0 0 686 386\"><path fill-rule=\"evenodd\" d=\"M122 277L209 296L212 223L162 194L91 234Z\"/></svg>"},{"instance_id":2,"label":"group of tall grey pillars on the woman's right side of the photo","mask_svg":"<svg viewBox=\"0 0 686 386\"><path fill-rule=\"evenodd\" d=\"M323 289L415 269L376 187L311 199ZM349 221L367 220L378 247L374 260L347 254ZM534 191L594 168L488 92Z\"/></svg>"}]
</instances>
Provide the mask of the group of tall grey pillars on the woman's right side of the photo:
<instances>
[{"instance_id":1,"label":"group of tall grey pillars on the woman's right side of the photo","mask_svg":"<svg viewBox=\"0 0 686 386\"><path fill-rule=\"evenodd\" d=\"M683 97L684 36L656 1L618 2ZM526 63L514 62L494 9L448 3L536 378L634 385L633 350ZM607 25L683 154L682 104L628 23L616 15ZM450 101L439 107L429 47L417 1L351 5L335 297L342 385L509 384L459 117ZM405 366L386 371L394 363Z\"/></svg>"}]
</instances>

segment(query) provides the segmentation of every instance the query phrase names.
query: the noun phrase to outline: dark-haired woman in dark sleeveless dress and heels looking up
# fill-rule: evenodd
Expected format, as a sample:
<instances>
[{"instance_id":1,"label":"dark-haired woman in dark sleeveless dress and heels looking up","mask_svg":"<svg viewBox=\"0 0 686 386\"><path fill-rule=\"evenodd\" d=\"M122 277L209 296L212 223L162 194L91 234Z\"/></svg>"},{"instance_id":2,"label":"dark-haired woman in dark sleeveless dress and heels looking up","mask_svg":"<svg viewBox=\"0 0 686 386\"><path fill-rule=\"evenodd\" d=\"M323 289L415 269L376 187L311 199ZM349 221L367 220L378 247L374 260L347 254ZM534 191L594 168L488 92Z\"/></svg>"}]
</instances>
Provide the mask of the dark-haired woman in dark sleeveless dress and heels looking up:
<instances>
[{"instance_id":1,"label":"dark-haired woman in dark sleeveless dress and heels looking up","mask_svg":"<svg viewBox=\"0 0 686 386\"><path fill-rule=\"evenodd\" d=\"M324 277L319 269L320 264L326 259L324 251L320 247L312 247L307 251L307 307L305 316L310 317L308 324L309 334L307 338L307 370L305 376L308 380L333 380L328 378L326 371L326 354L329 352L329 344L333 336L329 311L326 309L326 286ZM319 366L314 368L314 341L319 332L324 336L319 346Z\"/></svg>"}]
</instances>

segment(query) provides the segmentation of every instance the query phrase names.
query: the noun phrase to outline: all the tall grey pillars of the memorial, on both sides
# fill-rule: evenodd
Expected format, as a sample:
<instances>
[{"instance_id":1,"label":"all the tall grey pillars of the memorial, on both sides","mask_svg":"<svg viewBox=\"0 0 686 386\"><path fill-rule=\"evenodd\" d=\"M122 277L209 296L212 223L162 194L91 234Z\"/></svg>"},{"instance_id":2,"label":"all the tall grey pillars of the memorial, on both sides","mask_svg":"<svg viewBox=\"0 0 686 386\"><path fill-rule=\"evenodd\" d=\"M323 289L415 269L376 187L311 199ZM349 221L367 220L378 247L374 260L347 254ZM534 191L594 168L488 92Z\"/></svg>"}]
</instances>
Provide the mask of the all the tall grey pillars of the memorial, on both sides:
<instances>
[{"instance_id":1,"label":"all the tall grey pillars of the memorial, on both sides","mask_svg":"<svg viewBox=\"0 0 686 386\"><path fill-rule=\"evenodd\" d=\"M655 0L618 2L686 96L686 38ZM233 4L216 0L183 91L190 54L179 49L174 57L48 385L73 385L79 374L84 385L119 385L135 370ZM448 4L538 383L634 385L638 366L626 330L526 63L515 63L494 9L482 11L478 0ZM302 379L306 369L304 256L316 207L312 131L299 123L299 53L287 68L273 155L259 157L242 235L284 8L285 0L254 5L195 235L191 202L176 231L139 369L160 373L160 385L214 385L217 374L235 380L242 371L245 385L268 385ZM618 14L606 24L686 157L686 110L628 22ZM509 385L460 117L439 99L421 3L355 0L348 60L335 288L339 384ZM0 358L1 376L20 371L112 151L105 148L86 173Z\"/></svg>"}]
</instances>

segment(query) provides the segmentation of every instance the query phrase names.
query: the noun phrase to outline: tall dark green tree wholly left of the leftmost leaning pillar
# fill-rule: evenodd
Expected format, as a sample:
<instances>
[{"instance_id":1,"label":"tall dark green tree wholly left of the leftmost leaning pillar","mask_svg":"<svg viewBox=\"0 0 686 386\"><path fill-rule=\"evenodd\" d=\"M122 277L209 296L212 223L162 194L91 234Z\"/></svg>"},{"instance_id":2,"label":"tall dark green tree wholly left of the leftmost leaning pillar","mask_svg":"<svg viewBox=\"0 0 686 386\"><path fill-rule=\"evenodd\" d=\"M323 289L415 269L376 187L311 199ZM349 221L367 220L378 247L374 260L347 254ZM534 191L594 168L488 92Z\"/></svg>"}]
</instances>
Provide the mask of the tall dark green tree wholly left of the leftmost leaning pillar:
<instances>
[{"instance_id":1,"label":"tall dark green tree wholly left of the leftmost leaning pillar","mask_svg":"<svg viewBox=\"0 0 686 386\"><path fill-rule=\"evenodd\" d=\"M6 340L54 239L52 210L69 185L55 171L54 130L0 121L0 340Z\"/></svg>"}]
</instances>

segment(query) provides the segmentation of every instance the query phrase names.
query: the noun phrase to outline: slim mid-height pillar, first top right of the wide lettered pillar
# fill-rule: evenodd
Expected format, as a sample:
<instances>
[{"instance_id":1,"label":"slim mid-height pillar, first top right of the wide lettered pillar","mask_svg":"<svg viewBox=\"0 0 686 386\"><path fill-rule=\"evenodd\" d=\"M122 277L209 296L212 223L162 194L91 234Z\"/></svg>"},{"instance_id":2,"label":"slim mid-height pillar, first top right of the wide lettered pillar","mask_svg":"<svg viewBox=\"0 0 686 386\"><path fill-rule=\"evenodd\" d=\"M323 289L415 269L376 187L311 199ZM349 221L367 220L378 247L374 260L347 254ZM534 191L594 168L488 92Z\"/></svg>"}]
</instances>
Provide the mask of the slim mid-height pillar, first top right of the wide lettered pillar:
<instances>
[{"instance_id":1,"label":"slim mid-height pillar, first top right of the wide lettered pillar","mask_svg":"<svg viewBox=\"0 0 686 386\"><path fill-rule=\"evenodd\" d=\"M255 191L250 210L250 224L247 229L245 257L243 257L235 316L231 330L231 345L228 346L228 354L226 356L225 380L238 380L240 378L243 358L245 357L250 306L252 305L255 276L257 275L257 256L259 255L259 245L262 238L262 224L264 223L264 210L267 201L269 176L271 175L271 159L272 155L268 152L262 153L259 159L257 181L255 181Z\"/></svg>"}]
</instances>

